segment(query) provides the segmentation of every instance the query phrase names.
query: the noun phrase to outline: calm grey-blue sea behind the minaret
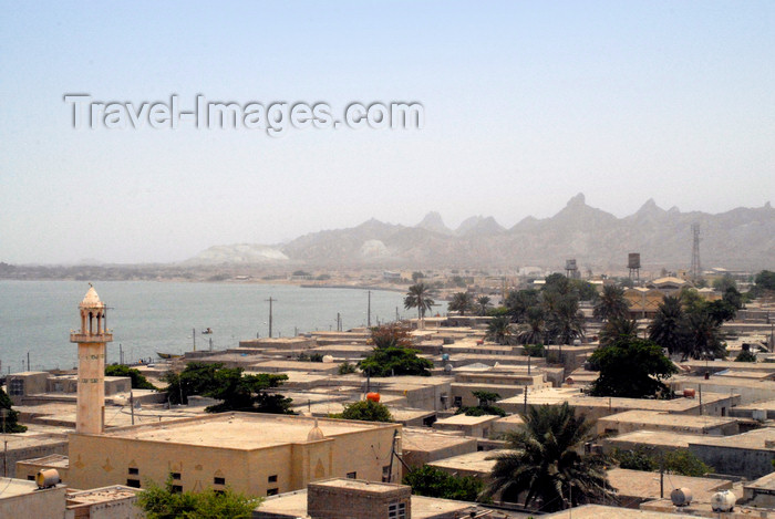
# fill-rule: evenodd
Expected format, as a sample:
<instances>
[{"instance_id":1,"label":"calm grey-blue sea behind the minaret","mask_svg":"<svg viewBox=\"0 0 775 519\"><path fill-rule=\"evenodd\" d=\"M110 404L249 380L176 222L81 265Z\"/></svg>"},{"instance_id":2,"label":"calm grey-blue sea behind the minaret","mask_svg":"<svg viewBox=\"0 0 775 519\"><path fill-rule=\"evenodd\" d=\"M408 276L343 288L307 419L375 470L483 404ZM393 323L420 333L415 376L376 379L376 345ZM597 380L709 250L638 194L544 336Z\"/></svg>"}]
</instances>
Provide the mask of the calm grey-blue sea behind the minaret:
<instances>
[{"instance_id":1,"label":"calm grey-blue sea behind the minaret","mask_svg":"<svg viewBox=\"0 0 775 519\"><path fill-rule=\"evenodd\" d=\"M94 288L108 307L113 330L107 361L156 357L156 352L237 346L240 340L268 335L269 302L272 335L294 331L335 330L337 312L343 329L366 323L368 293L354 289L304 289L290 286L103 281ZM70 369L76 364L70 330L80 326L78 304L89 290L82 281L0 281L0 361L2 373L19 372L30 354L32 370ZM378 319L413 316L403 308L403 293L372 290L372 324ZM200 332L211 328L211 335Z\"/></svg>"}]
</instances>

